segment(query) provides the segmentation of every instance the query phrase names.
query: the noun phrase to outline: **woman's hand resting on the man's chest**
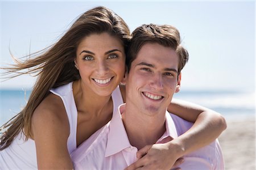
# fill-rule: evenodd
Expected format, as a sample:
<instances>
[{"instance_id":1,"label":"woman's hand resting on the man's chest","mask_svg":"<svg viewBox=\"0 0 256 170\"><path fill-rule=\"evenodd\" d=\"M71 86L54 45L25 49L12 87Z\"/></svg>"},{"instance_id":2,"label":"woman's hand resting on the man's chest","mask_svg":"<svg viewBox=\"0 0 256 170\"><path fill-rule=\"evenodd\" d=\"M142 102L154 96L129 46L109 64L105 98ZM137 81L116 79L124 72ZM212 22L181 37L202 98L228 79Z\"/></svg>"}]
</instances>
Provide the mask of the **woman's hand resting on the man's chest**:
<instances>
[{"instance_id":1,"label":"woman's hand resting on the man's chest","mask_svg":"<svg viewBox=\"0 0 256 170\"><path fill-rule=\"evenodd\" d=\"M131 164L125 170L180 169L177 166L183 163L184 159L179 158L175 151L177 151L176 145L171 142L147 145L137 152L137 162Z\"/></svg>"}]
</instances>

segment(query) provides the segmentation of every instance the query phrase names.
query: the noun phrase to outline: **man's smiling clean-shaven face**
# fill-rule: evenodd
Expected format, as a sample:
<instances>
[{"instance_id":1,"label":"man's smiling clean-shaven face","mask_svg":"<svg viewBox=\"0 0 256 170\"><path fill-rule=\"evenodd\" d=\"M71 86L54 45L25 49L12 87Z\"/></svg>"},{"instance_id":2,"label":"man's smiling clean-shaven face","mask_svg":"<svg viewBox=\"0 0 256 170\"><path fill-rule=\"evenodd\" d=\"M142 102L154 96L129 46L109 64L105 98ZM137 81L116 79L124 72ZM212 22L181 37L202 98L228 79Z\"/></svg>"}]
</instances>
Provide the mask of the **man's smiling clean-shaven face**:
<instances>
[{"instance_id":1,"label":"man's smiling clean-shaven face","mask_svg":"<svg viewBox=\"0 0 256 170\"><path fill-rule=\"evenodd\" d=\"M163 114L172 96L179 91L179 58L175 50L146 43L131 63L126 81L126 102L148 116ZM129 104L129 105L130 105Z\"/></svg>"}]
</instances>

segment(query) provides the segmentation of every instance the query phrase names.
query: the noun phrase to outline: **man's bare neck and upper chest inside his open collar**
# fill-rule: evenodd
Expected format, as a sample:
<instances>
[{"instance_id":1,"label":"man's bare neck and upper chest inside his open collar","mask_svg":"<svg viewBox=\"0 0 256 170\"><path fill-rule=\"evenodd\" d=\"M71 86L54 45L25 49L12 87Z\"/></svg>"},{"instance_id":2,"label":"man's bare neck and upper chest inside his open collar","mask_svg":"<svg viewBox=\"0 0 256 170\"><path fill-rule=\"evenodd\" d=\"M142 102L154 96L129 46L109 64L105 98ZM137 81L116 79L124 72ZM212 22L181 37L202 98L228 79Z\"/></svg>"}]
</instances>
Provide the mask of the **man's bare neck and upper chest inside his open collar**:
<instances>
[{"instance_id":1,"label":"man's bare neck and upper chest inside his open collar","mask_svg":"<svg viewBox=\"0 0 256 170\"><path fill-rule=\"evenodd\" d=\"M129 105L127 107L126 104L122 121L131 145L139 150L146 145L156 143L166 131L165 115L164 112L155 114L155 116L148 116L134 107Z\"/></svg>"}]
</instances>

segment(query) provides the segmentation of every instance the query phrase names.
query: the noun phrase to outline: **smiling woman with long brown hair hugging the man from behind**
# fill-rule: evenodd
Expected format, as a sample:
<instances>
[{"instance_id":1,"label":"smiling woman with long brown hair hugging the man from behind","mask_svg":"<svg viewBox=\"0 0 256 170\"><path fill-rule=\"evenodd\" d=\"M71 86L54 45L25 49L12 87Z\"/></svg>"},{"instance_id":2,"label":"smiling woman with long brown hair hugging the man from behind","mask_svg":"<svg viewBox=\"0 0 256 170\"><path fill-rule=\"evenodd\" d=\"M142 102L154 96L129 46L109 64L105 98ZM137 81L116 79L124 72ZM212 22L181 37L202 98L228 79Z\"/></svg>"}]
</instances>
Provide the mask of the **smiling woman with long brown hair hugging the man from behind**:
<instances>
[{"instance_id":1,"label":"smiling woman with long brown hair hugging the man from behind","mask_svg":"<svg viewBox=\"0 0 256 170\"><path fill-rule=\"evenodd\" d=\"M124 102L125 87L118 84L125 74L129 40L129 28L122 18L108 8L96 7L82 14L45 53L35 53L36 57L8 69L9 73L30 69L26 73L38 73L38 79L26 107L6 124L9 128L1 136L4 168L72 169L69 154L104 126ZM171 159L174 148L203 147L225 129L224 118L200 107L171 104L168 111L197 121L180 143L166 143L172 148L161 154L166 158ZM187 138L201 143L188 143ZM155 146L145 147L148 155L160 152ZM153 155L149 160L158 160ZM138 163L140 167L150 164ZM172 167L173 163L167 159L160 164Z\"/></svg>"}]
</instances>

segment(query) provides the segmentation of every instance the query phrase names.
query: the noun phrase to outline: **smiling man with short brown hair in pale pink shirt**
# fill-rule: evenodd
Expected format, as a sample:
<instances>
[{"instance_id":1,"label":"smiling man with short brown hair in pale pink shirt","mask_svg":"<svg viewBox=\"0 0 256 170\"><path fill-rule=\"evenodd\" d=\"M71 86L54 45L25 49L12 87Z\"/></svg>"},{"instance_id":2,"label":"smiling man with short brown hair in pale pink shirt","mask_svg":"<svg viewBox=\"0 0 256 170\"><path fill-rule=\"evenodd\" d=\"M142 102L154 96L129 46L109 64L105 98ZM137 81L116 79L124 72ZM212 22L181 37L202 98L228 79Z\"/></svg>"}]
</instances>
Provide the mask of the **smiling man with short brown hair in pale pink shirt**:
<instances>
[{"instance_id":1,"label":"smiling man with short brown hair in pale pink shirt","mask_svg":"<svg viewBox=\"0 0 256 170\"><path fill-rule=\"evenodd\" d=\"M149 24L135 29L126 61L126 104L72 153L74 168L124 169L137 160L142 147L170 141L191 128L167 112L187 61L176 28ZM184 160L182 169L224 169L217 141L184 155Z\"/></svg>"}]
</instances>

